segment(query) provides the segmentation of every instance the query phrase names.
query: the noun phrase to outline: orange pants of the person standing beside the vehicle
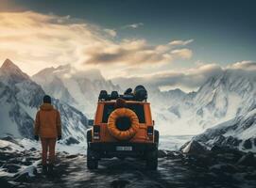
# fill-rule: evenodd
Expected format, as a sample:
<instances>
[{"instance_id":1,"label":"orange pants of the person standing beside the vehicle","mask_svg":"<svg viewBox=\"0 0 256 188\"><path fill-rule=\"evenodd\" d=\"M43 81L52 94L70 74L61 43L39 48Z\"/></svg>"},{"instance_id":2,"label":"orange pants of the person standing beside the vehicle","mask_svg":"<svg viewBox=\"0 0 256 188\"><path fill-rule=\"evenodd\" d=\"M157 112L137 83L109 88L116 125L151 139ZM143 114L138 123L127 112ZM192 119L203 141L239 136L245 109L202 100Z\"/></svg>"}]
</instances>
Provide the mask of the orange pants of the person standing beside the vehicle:
<instances>
[{"instance_id":1,"label":"orange pants of the person standing beside the vehicle","mask_svg":"<svg viewBox=\"0 0 256 188\"><path fill-rule=\"evenodd\" d=\"M41 138L42 143L42 164L47 164L47 155L49 151L49 164L55 163L56 138Z\"/></svg>"}]
</instances>

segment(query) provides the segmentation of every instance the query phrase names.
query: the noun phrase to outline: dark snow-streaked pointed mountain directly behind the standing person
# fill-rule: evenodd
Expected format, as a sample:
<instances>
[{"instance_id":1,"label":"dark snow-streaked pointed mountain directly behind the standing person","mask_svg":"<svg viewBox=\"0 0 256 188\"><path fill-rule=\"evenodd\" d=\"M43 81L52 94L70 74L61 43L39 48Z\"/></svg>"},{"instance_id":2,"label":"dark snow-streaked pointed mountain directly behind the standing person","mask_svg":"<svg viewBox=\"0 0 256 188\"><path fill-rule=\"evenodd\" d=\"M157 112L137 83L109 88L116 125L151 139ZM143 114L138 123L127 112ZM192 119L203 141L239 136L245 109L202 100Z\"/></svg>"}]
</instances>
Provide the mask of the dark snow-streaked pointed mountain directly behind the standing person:
<instances>
[{"instance_id":1,"label":"dark snow-streaked pointed mountain directly behind the standing person","mask_svg":"<svg viewBox=\"0 0 256 188\"><path fill-rule=\"evenodd\" d=\"M43 88L33 82L9 59L0 68L0 136L33 136L36 112L43 102ZM86 137L87 118L76 108L57 99L54 106L60 110L63 138L79 141Z\"/></svg>"}]
</instances>

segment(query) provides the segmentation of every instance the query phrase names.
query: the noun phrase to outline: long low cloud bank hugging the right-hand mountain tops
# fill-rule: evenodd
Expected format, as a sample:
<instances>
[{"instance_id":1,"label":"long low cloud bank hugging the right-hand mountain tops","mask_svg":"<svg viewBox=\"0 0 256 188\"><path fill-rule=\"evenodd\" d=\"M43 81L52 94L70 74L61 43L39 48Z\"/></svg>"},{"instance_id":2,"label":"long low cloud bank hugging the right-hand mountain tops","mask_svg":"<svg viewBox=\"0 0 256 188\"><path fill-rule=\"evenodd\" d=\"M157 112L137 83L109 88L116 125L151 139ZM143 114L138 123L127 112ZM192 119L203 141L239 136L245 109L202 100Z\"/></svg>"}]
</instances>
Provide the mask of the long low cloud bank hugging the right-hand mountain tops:
<instances>
[{"instance_id":1,"label":"long low cloud bank hugging the right-hand mountain tops","mask_svg":"<svg viewBox=\"0 0 256 188\"><path fill-rule=\"evenodd\" d=\"M185 88L186 91L196 90L202 86L208 79L223 75L245 76L255 79L256 63L251 61L242 61L233 63L227 67L221 67L217 64L198 64L195 68L183 69L180 71L159 71L149 73L143 76L131 76L128 78L115 78L113 83L120 86L134 87L145 85L153 88Z\"/></svg>"}]
</instances>

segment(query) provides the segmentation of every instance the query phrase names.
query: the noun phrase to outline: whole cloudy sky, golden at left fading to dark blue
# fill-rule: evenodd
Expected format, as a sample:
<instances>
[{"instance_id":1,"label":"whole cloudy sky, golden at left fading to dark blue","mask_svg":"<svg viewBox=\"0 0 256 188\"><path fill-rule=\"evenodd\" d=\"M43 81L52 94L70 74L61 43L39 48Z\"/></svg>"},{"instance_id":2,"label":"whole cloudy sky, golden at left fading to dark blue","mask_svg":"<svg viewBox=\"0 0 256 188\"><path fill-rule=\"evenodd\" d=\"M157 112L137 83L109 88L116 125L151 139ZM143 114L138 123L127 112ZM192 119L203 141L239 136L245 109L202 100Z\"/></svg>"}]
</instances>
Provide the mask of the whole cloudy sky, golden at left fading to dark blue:
<instances>
[{"instance_id":1,"label":"whole cloudy sky, golden at left fading to dark blue","mask_svg":"<svg viewBox=\"0 0 256 188\"><path fill-rule=\"evenodd\" d=\"M33 75L70 63L107 79L194 90L255 71L253 1L0 0L0 61ZM127 82L127 81L126 81Z\"/></svg>"}]
</instances>

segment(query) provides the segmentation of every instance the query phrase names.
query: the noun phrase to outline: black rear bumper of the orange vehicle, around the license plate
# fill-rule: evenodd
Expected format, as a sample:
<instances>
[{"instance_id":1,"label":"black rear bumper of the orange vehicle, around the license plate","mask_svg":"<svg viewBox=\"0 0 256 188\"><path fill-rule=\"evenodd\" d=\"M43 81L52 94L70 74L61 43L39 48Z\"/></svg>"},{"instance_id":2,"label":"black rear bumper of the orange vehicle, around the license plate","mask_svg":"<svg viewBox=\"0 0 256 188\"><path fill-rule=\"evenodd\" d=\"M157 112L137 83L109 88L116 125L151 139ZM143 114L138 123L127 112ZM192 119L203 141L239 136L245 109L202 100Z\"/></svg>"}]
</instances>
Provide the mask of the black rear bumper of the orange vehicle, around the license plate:
<instances>
[{"instance_id":1,"label":"black rear bumper of the orange vehicle, around the license plate","mask_svg":"<svg viewBox=\"0 0 256 188\"><path fill-rule=\"evenodd\" d=\"M129 143L129 142L111 142L111 143L89 143L89 147L98 157L140 157L147 151L158 148L156 143ZM117 150L117 147L129 147L131 150Z\"/></svg>"}]
</instances>

